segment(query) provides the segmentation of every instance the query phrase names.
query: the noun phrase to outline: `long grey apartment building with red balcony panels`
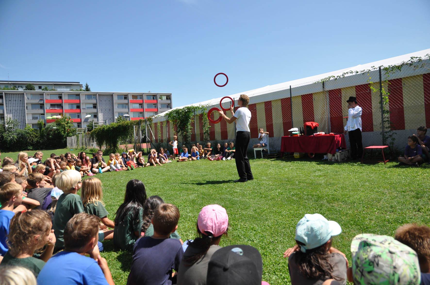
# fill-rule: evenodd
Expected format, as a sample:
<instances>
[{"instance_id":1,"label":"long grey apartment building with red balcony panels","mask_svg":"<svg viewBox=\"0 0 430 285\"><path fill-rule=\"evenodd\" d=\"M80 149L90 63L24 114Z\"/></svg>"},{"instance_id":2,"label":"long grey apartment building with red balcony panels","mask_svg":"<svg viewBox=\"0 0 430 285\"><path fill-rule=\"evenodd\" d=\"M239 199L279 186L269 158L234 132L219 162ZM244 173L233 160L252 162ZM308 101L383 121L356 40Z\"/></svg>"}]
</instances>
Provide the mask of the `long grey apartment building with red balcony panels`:
<instances>
[{"instance_id":1,"label":"long grey apartment building with red balcony panels","mask_svg":"<svg viewBox=\"0 0 430 285\"><path fill-rule=\"evenodd\" d=\"M34 85L22 82L15 88L25 87L27 83ZM0 82L1 88L3 85ZM43 85L34 86L37 90ZM74 89L74 85L68 87ZM19 128L27 124L37 128L37 121L44 120L48 124L55 121L52 116L61 115L70 116L76 127L86 127L92 120L110 124L118 117L138 120L172 109L171 93L60 92L55 89L57 91L0 90L0 122L13 118L18 121Z\"/></svg>"}]
</instances>

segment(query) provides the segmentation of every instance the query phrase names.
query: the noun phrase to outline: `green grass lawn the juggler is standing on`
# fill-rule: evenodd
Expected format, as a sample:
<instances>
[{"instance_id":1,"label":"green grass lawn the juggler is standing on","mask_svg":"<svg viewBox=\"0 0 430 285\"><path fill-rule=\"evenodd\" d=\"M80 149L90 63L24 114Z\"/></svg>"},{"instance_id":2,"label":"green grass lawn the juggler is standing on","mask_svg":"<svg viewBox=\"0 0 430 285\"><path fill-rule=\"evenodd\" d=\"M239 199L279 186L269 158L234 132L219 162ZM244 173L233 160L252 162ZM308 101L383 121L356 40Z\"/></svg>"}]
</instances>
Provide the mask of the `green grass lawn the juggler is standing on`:
<instances>
[{"instance_id":1,"label":"green grass lawn the juggler is standing on","mask_svg":"<svg viewBox=\"0 0 430 285\"><path fill-rule=\"evenodd\" d=\"M51 153L43 152L44 158ZM203 206L220 204L227 209L230 223L221 246L257 248L263 258L263 280L271 285L290 284L282 254L295 244L295 225L306 213L320 213L341 225L343 232L334 238L333 246L349 260L350 242L359 233L393 235L404 223L430 225L429 164L399 167L394 162L252 159L251 168L255 180L246 183L232 182L238 178L234 161L174 162L96 177L103 184L109 218L114 219L123 202L126 183L140 179L148 197L159 195L178 206L182 240L196 237L197 215ZM104 247L101 255L107 259L115 283L126 284L131 254L115 252L110 241Z\"/></svg>"}]
</instances>

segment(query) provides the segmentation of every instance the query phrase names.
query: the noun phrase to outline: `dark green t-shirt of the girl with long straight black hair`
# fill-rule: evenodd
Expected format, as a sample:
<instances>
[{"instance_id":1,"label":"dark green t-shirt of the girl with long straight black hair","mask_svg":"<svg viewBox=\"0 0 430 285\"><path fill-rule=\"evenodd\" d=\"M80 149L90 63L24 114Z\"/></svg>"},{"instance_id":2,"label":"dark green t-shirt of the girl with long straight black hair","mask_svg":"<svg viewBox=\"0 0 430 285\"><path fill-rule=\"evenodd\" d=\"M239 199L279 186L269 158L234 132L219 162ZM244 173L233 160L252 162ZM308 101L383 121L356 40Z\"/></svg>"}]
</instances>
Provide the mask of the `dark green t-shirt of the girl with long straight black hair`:
<instances>
[{"instance_id":1,"label":"dark green t-shirt of the girl with long straight black hair","mask_svg":"<svg viewBox=\"0 0 430 285\"><path fill-rule=\"evenodd\" d=\"M138 217L135 217L133 212L128 212L122 222L115 224L114 246L118 249L132 251L134 243L140 237L142 224L143 208L139 210ZM139 232L139 236L135 236L135 231Z\"/></svg>"}]
</instances>

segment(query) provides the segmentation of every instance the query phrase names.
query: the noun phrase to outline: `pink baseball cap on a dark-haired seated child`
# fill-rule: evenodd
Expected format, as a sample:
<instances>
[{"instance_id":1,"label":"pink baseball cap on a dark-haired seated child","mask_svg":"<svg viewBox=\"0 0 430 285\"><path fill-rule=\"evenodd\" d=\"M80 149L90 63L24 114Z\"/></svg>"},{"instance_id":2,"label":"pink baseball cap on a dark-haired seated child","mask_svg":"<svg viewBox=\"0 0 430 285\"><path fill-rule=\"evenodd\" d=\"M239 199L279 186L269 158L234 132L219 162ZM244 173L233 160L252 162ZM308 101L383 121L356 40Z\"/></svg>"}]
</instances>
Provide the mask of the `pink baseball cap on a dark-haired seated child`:
<instances>
[{"instance_id":1,"label":"pink baseball cap on a dark-haired seated child","mask_svg":"<svg viewBox=\"0 0 430 285\"><path fill-rule=\"evenodd\" d=\"M205 234L205 231L208 231L213 236L221 236L221 234L225 233L228 226L227 211L216 204L204 206L199 213L197 226L203 234Z\"/></svg>"}]
</instances>

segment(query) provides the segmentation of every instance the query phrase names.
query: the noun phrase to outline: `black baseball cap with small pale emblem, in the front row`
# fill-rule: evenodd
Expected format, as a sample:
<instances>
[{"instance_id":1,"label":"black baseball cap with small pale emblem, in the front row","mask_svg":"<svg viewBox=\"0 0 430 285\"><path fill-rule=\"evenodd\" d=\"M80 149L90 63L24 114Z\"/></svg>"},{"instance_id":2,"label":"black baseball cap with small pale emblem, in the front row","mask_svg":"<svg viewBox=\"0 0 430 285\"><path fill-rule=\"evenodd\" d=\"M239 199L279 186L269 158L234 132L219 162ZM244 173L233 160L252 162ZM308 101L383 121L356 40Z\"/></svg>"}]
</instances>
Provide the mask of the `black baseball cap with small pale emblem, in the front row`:
<instances>
[{"instance_id":1,"label":"black baseball cap with small pale emblem, in the front row","mask_svg":"<svg viewBox=\"0 0 430 285\"><path fill-rule=\"evenodd\" d=\"M263 261L252 246L218 249L209 261L206 285L261 285Z\"/></svg>"}]
</instances>

